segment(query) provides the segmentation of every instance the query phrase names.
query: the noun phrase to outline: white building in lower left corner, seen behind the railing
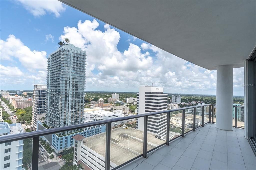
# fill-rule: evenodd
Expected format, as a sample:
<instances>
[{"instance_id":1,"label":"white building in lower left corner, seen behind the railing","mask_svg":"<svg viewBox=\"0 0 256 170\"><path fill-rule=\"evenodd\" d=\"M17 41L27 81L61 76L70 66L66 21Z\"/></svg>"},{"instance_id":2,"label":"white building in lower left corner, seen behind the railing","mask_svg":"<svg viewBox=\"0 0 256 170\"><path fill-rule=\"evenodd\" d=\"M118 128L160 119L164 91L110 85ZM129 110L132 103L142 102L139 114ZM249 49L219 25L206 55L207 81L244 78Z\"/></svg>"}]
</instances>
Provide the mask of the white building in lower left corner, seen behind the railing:
<instances>
[{"instance_id":1,"label":"white building in lower left corner, seen behind the railing","mask_svg":"<svg viewBox=\"0 0 256 170\"><path fill-rule=\"evenodd\" d=\"M8 124L6 122L0 122L0 136L23 132L24 130L20 123ZM0 144L0 155L0 169L24 169L22 168L23 140Z\"/></svg>"}]
</instances>

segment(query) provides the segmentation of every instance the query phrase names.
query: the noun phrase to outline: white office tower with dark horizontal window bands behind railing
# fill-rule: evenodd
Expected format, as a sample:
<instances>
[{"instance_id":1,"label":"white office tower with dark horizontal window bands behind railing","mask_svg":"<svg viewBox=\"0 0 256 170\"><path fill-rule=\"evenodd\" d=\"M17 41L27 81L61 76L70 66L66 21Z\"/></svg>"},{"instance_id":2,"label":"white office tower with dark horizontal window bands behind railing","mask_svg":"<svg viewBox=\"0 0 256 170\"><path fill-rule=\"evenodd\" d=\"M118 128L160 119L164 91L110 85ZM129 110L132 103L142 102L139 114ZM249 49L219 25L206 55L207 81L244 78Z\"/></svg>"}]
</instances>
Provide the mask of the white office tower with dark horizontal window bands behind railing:
<instances>
[{"instance_id":1,"label":"white office tower with dark horizontal window bands behind railing","mask_svg":"<svg viewBox=\"0 0 256 170\"><path fill-rule=\"evenodd\" d=\"M137 93L137 114L167 110L167 94L162 87L141 86ZM148 132L156 135L166 135L167 115L148 116ZM144 129L144 118L138 118L137 129Z\"/></svg>"}]
</instances>

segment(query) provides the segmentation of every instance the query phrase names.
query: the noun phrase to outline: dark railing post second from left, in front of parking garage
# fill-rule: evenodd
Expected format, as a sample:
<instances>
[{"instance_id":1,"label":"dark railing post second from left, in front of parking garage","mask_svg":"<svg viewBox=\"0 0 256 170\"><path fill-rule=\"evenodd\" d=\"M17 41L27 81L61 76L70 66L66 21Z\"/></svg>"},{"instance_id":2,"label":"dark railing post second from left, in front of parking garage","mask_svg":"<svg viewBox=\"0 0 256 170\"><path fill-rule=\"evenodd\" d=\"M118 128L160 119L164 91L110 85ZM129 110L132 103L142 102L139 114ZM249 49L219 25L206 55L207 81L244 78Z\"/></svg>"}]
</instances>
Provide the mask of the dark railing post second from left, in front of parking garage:
<instances>
[{"instance_id":1,"label":"dark railing post second from left, in front of parking garage","mask_svg":"<svg viewBox=\"0 0 256 170\"><path fill-rule=\"evenodd\" d=\"M111 137L111 123L106 124L106 154L105 154L105 170L110 169L110 137Z\"/></svg>"}]
</instances>

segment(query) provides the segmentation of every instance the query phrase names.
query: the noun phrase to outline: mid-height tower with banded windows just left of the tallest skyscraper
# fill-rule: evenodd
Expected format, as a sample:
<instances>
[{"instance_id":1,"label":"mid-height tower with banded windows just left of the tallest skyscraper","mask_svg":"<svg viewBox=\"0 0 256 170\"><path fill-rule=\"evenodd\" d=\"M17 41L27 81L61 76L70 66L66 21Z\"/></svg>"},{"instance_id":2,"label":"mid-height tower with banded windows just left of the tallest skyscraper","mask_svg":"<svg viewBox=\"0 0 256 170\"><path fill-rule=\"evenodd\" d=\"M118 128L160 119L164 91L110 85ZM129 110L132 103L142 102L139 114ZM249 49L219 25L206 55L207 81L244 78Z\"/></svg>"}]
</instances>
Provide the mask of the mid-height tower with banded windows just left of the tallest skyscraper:
<instances>
[{"instance_id":1,"label":"mid-height tower with banded windows just left of the tallest skyscraper","mask_svg":"<svg viewBox=\"0 0 256 170\"><path fill-rule=\"evenodd\" d=\"M37 129L37 121L41 120L42 117L45 117L46 88L45 84L34 84L32 98L32 125L35 129Z\"/></svg>"}]
</instances>

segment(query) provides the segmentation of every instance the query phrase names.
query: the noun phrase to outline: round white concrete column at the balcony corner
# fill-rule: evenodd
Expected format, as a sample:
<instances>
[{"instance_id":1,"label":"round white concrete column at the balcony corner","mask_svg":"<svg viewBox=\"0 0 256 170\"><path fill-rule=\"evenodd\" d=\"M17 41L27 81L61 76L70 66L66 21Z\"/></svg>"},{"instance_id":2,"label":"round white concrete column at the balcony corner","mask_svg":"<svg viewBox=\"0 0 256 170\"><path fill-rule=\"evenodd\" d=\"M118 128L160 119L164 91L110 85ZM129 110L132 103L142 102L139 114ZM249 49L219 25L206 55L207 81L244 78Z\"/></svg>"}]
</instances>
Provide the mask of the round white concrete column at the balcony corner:
<instances>
[{"instance_id":1,"label":"round white concrete column at the balcony corner","mask_svg":"<svg viewBox=\"0 0 256 170\"><path fill-rule=\"evenodd\" d=\"M232 130L233 66L217 66L216 128Z\"/></svg>"}]
</instances>

